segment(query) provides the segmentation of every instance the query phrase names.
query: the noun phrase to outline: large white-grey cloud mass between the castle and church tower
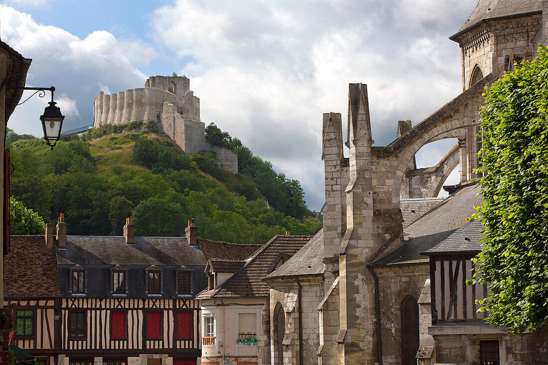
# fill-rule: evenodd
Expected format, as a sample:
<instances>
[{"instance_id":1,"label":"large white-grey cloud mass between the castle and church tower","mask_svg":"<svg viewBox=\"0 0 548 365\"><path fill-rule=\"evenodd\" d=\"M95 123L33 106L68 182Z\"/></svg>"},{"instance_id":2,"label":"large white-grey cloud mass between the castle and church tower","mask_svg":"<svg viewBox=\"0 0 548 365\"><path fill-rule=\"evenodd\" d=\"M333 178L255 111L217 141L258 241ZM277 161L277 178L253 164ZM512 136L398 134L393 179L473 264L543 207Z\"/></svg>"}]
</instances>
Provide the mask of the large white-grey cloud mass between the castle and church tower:
<instances>
[{"instance_id":1,"label":"large white-grey cloud mass between the castle and church tower","mask_svg":"<svg viewBox=\"0 0 548 365\"><path fill-rule=\"evenodd\" d=\"M156 10L152 26L158 42L191 56L180 73L201 98L202 121L299 179L319 209L322 113L345 116L348 83L367 83L384 145L398 119L418 123L458 95L460 49L447 37L475 3L178 0Z\"/></svg>"}]
</instances>

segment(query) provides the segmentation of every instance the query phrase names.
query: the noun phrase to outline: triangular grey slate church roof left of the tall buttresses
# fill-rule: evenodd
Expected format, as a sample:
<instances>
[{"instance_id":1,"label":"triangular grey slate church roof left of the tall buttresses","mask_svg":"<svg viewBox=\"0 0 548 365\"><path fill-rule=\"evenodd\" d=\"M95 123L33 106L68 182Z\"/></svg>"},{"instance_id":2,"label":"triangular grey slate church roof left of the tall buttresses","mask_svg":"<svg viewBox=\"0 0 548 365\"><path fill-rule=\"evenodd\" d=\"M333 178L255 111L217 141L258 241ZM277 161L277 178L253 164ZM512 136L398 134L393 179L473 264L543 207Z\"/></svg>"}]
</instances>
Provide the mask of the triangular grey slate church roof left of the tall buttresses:
<instances>
[{"instance_id":1,"label":"triangular grey slate church roof left of the tall buttresses","mask_svg":"<svg viewBox=\"0 0 548 365\"><path fill-rule=\"evenodd\" d=\"M323 229L282 266L271 272L265 280L284 276L323 275Z\"/></svg>"}]
</instances>

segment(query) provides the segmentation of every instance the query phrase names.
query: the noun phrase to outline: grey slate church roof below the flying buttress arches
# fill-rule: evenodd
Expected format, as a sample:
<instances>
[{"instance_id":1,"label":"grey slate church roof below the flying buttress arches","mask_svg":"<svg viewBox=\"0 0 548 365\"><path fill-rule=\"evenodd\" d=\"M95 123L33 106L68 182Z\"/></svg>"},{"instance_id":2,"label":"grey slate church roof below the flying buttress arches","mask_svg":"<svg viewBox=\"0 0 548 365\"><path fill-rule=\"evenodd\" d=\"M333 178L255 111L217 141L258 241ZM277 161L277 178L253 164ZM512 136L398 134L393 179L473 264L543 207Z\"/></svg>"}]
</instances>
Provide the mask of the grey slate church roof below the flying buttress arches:
<instances>
[{"instance_id":1,"label":"grey slate church roof below the flying buttress arches","mask_svg":"<svg viewBox=\"0 0 548 365\"><path fill-rule=\"evenodd\" d=\"M466 218L476 212L481 204L479 186L465 186L430 212L408 225L404 244L391 253L375 260L372 266L393 264L427 263L429 259L421 252L436 246L466 224Z\"/></svg>"}]
</instances>

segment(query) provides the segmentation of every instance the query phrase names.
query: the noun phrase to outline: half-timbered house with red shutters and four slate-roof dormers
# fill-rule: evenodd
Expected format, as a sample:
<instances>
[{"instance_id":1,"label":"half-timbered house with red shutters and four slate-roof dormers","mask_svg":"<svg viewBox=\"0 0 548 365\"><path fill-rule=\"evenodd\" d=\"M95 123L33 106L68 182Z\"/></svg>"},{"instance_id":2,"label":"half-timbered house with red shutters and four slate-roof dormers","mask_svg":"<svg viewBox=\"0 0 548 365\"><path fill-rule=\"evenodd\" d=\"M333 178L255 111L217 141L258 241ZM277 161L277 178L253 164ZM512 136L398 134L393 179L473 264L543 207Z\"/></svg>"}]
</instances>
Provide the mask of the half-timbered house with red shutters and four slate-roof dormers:
<instances>
[{"instance_id":1,"label":"half-timbered house with red shutters and four slate-roof dormers","mask_svg":"<svg viewBox=\"0 0 548 365\"><path fill-rule=\"evenodd\" d=\"M48 241L46 227L46 241ZM195 364L206 256L197 227L186 237L67 236L55 230L59 272L59 363Z\"/></svg>"}]
</instances>

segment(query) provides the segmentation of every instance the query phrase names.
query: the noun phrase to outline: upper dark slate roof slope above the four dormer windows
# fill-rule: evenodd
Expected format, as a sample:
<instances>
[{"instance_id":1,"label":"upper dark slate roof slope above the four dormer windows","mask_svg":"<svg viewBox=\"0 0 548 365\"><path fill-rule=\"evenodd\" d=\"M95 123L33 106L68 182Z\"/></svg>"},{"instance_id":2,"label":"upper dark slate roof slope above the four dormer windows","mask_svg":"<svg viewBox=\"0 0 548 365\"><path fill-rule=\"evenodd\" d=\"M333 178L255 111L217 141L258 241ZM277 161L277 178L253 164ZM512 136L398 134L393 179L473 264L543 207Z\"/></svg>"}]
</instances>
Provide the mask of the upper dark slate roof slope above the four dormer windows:
<instances>
[{"instance_id":1,"label":"upper dark slate roof slope above the four dormer windows","mask_svg":"<svg viewBox=\"0 0 548 365\"><path fill-rule=\"evenodd\" d=\"M67 248L57 250L58 264L81 265L195 265L206 266L199 247L185 237L67 236Z\"/></svg>"}]
</instances>

